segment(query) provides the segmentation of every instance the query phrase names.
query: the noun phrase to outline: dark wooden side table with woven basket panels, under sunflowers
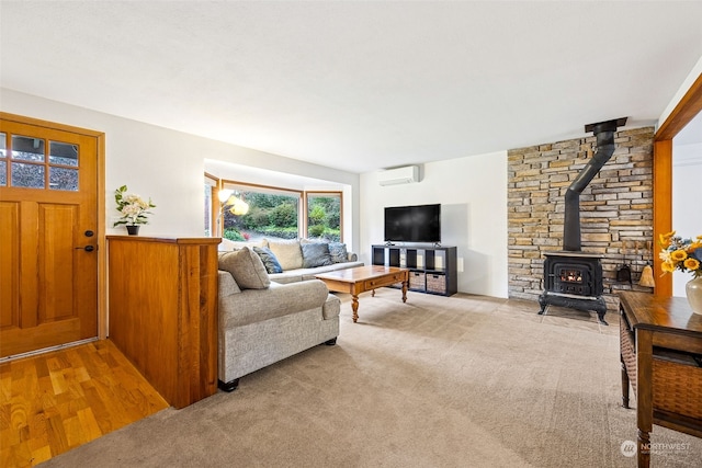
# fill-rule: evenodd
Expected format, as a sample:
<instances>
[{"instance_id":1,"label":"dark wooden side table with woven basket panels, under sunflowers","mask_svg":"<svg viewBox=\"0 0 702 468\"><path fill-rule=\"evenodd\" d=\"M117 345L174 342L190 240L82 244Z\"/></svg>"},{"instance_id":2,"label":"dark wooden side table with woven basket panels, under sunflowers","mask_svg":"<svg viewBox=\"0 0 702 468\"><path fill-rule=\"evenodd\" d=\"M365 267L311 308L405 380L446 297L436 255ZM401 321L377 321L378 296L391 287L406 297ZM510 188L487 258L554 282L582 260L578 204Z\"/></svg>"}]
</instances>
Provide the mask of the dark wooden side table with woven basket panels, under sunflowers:
<instances>
[{"instance_id":1,"label":"dark wooden side table with woven basket panels, under sunflowers","mask_svg":"<svg viewBox=\"0 0 702 468\"><path fill-rule=\"evenodd\" d=\"M653 424L702 437L702 316L684 298L620 293L622 402L636 393L638 466L650 463Z\"/></svg>"}]
</instances>

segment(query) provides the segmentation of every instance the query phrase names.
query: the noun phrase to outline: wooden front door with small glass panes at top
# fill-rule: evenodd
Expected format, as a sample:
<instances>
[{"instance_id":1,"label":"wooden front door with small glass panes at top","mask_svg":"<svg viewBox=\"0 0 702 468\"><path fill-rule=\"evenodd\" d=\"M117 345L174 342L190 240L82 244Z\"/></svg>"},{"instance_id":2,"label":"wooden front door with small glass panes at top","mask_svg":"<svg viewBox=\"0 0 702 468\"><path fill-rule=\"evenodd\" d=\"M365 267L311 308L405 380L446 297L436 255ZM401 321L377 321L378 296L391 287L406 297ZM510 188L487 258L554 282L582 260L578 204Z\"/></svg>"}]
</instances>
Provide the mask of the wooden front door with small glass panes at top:
<instances>
[{"instance_id":1,"label":"wooden front door with small glass panes at top","mask_svg":"<svg viewBox=\"0 0 702 468\"><path fill-rule=\"evenodd\" d=\"M0 357L98 335L98 138L43 124L0 118Z\"/></svg>"}]
</instances>

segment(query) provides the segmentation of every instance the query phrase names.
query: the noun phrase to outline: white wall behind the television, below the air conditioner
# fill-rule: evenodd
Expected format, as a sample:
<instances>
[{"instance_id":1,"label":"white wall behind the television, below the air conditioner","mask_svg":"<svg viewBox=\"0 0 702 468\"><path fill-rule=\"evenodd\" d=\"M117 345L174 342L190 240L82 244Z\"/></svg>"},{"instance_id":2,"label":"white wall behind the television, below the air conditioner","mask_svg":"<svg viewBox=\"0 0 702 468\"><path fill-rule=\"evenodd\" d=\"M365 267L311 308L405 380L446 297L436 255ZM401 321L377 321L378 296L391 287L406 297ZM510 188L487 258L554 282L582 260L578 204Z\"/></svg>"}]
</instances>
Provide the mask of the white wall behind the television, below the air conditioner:
<instances>
[{"instance_id":1,"label":"white wall behind the television, below the air conditioner","mask_svg":"<svg viewBox=\"0 0 702 468\"><path fill-rule=\"evenodd\" d=\"M386 206L441 204L442 246L456 246L458 292L507 297L507 151L431 162L419 183L381 186L361 174L361 259L383 243Z\"/></svg>"}]
</instances>

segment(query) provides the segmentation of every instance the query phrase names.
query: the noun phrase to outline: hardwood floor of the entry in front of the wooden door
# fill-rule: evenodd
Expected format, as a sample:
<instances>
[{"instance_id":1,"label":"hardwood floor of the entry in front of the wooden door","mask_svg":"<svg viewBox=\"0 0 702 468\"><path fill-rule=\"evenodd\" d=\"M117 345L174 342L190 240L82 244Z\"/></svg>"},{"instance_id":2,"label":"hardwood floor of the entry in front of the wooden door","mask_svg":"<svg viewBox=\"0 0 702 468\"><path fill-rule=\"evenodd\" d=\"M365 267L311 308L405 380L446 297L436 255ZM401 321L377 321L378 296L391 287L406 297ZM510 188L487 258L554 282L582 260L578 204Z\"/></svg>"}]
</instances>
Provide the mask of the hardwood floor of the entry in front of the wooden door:
<instances>
[{"instance_id":1,"label":"hardwood floor of the entry in front of the wooden door","mask_svg":"<svg viewBox=\"0 0 702 468\"><path fill-rule=\"evenodd\" d=\"M168 408L110 341L0 364L0 466L29 467Z\"/></svg>"}]
</instances>

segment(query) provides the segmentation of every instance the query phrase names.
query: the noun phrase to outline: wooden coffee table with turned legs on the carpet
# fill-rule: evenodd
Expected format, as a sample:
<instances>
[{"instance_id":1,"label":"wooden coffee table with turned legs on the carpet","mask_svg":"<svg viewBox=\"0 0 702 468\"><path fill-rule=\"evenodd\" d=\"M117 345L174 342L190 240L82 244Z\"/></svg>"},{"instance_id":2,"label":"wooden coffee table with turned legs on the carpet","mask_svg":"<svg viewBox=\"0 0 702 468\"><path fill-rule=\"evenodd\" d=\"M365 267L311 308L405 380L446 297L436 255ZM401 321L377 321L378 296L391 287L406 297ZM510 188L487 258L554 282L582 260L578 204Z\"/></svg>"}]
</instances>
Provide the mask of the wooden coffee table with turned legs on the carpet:
<instances>
[{"instance_id":1,"label":"wooden coffee table with turned legs on the carpet","mask_svg":"<svg viewBox=\"0 0 702 468\"><path fill-rule=\"evenodd\" d=\"M393 284L403 284L403 303L407 301L407 286L409 284L409 270L396 266L358 266L355 269L337 270L336 272L321 273L317 278L325 282L329 290L349 293L352 297L351 309L353 322L359 320L359 294L372 292Z\"/></svg>"}]
</instances>

